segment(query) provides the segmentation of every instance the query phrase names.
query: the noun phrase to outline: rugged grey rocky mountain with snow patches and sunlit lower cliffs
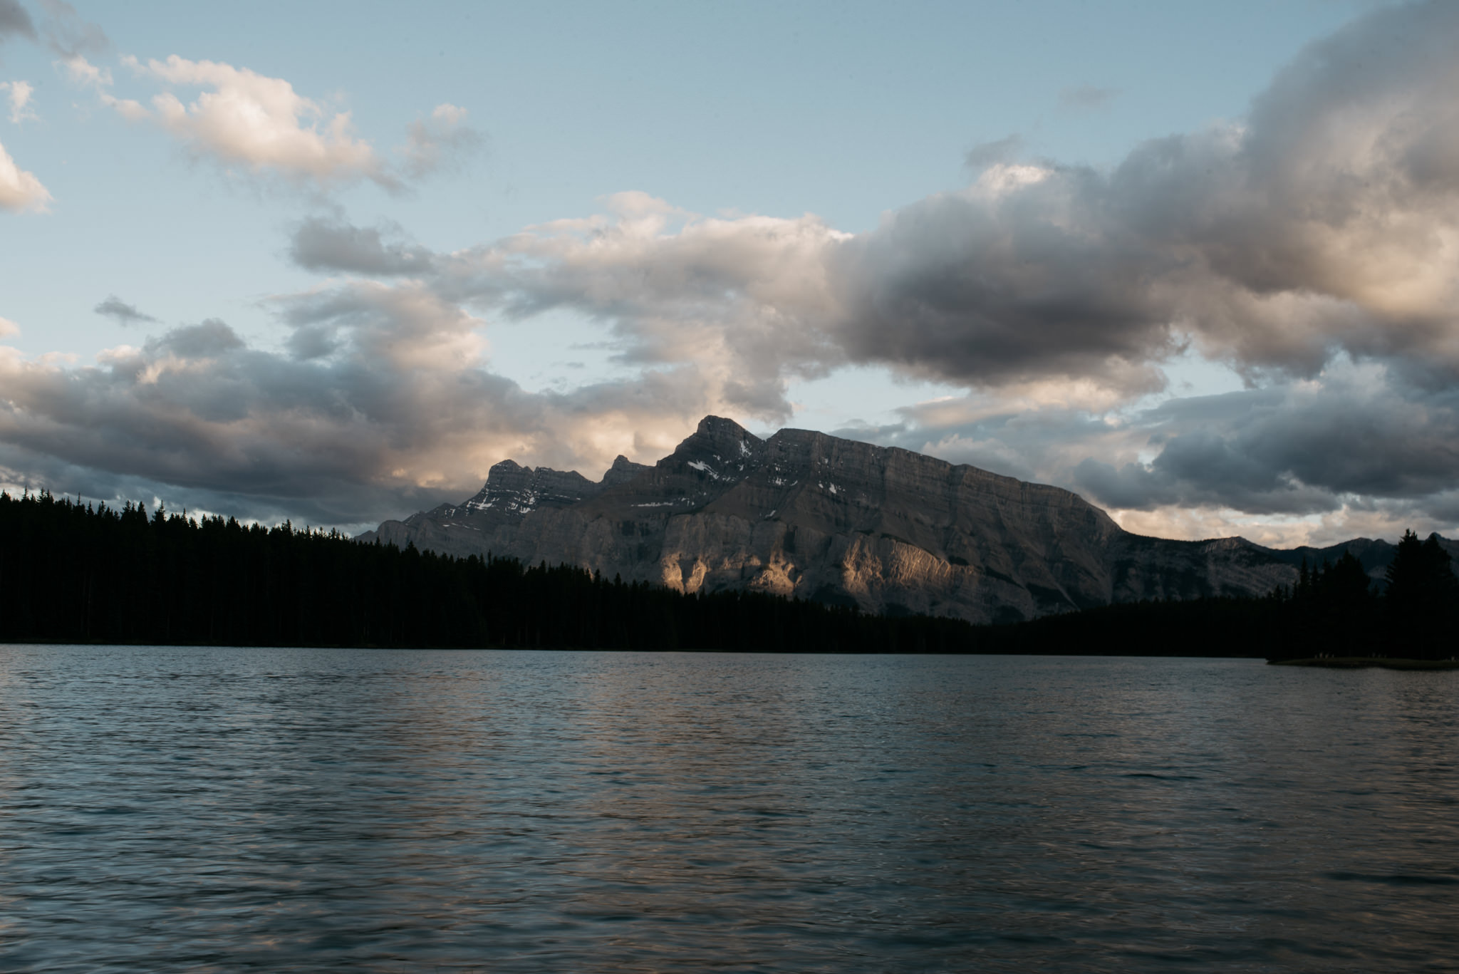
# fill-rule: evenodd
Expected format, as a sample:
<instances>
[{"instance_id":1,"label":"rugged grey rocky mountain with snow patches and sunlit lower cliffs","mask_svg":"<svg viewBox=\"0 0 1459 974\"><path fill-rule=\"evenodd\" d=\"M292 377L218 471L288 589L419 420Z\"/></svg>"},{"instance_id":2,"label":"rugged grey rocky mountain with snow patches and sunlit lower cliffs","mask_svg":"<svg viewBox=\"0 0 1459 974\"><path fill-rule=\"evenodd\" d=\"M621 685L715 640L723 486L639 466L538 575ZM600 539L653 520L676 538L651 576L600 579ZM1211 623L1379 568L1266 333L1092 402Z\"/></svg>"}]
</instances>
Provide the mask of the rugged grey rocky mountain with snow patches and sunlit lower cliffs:
<instances>
[{"instance_id":1,"label":"rugged grey rocky mountain with snow patches and sunlit lower cliffs","mask_svg":"<svg viewBox=\"0 0 1459 974\"><path fill-rule=\"evenodd\" d=\"M471 499L360 536L375 539L680 591L754 588L972 622L1259 596L1291 584L1303 558L1354 548L1382 575L1392 556L1367 539L1275 551L1242 537L1144 537L1061 488L808 429L760 440L719 416L657 464L619 457L598 482L505 460Z\"/></svg>"}]
</instances>

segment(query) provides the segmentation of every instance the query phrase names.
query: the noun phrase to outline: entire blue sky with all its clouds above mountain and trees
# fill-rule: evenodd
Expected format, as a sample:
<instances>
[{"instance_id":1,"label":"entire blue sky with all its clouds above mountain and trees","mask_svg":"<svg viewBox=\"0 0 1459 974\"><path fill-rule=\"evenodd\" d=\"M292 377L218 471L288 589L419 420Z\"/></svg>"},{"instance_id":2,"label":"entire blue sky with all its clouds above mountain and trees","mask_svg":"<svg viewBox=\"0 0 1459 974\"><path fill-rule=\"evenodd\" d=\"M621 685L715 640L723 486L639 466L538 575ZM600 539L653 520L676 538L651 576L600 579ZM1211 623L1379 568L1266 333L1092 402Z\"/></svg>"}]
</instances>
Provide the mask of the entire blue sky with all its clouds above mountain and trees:
<instances>
[{"instance_id":1,"label":"entire blue sky with all its clouds above mountain and trees","mask_svg":"<svg viewBox=\"0 0 1459 974\"><path fill-rule=\"evenodd\" d=\"M0 0L0 485L357 532L705 415L1459 532L1459 4Z\"/></svg>"}]
</instances>

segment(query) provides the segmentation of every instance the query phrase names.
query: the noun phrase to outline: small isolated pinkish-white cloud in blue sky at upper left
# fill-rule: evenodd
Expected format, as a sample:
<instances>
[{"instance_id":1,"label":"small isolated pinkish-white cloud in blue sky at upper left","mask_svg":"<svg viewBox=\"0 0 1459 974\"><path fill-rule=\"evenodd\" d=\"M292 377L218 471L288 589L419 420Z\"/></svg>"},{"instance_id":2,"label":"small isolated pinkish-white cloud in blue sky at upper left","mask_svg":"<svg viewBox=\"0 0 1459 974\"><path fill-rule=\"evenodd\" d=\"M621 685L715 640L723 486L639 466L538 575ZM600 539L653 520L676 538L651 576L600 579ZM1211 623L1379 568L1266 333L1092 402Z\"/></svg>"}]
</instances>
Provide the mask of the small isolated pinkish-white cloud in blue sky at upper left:
<instances>
[{"instance_id":1,"label":"small isolated pinkish-white cloud in blue sky at upper left","mask_svg":"<svg viewBox=\"0 0 1459 974\"><path fill-rule=\"evenodd\" d=\"M295 184L327 187L371 180L388 190L400 188L375 149L355 137L349 112L331 115L282 77L175 54L146 64L131 57L123 61L168 86L203 89L187 104L165 91L153 96L150 108L104 98L128 120L162 126L198 158Z\"/></svg>"}]
</instances>

